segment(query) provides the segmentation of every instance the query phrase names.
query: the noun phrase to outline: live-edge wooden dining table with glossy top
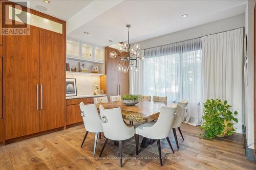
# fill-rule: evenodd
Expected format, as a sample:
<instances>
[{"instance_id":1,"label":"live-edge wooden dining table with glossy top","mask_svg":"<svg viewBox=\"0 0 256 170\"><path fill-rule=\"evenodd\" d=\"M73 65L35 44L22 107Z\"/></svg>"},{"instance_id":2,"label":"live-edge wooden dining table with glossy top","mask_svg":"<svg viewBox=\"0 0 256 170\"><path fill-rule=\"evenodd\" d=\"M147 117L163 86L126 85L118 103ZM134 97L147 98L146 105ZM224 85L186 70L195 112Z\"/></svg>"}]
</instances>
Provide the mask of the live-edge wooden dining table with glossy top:
<instances>
[{"instance_id":1,"label":"live-edge wooden dining table with glossy top","mask_svg":"<svg viewBox=\"0 0 256 170\"><path fill-rule=\"evenodd\" d=\"M122 103L122 101L116 101L108 103L98 103L97 108L99 108L100 105L102 105L105 109L120 107L121 114L124 120L130 120L130 122L145 124L147 122L158 119L162 106L170 106L172 104L173 103L169 102L140 101L136 105L128 106ZM152 143L154 143L154 140L143 137L140 147L146 148L149 144Z\"/></svg>"}]
</instances>

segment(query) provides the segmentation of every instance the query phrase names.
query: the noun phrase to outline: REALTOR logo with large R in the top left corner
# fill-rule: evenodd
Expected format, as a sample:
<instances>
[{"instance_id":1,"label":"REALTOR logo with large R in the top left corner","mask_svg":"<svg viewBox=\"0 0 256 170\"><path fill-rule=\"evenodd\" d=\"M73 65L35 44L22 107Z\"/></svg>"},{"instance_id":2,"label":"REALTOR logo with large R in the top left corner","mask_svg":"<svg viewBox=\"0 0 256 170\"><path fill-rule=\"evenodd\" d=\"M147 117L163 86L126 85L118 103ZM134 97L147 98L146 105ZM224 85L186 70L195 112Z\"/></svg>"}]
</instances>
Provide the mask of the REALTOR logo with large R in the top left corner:
<instances>
[{"instance_id":1,"label":"REALTOR logo with large R in the top left corner","mask_svg":"<svg viewBox=\"0 0 256 170\"><path fill-rule=\"evenodd\" d=\"M14 1L13 1L14 2ZM29 8L27 1L1 1L1 35L29 35Z\"/></svg>"}]
</instances>

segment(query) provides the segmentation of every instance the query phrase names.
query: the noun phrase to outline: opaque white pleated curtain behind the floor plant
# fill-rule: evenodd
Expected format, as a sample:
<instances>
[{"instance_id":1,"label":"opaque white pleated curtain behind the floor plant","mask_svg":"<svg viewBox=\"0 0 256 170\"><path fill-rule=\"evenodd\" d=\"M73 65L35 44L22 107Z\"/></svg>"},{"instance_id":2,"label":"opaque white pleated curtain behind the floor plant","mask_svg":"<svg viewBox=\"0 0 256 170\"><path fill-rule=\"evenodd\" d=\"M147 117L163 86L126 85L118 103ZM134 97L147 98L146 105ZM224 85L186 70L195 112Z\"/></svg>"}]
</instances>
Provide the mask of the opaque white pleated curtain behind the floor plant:
<instances>
[{"instance_id":1,"label":"opaque white pleated curtain behind the floor plant","mask_svg":"<svg viewBox=\"0 0 256 170\"><path fill-rule=\"evenodd\" d=\"M202 101L227 100L238 111L236 132L242 133L243 31L236 29L202 37Z\"/></svg>"}]
</instances>

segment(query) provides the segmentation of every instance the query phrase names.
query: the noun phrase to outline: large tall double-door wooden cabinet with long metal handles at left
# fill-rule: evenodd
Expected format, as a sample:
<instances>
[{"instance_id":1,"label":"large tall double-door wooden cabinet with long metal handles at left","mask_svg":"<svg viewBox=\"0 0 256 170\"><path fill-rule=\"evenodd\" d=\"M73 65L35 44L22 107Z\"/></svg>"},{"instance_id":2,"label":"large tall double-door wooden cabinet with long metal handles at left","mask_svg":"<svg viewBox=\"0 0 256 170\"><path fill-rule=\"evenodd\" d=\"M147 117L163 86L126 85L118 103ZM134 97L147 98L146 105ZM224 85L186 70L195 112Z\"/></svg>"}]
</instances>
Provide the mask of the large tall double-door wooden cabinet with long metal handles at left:
<instances>
[{"instance_id":1,"label":"large tall double-door wooden cabinet with long metal handles at left","mask_svg":"<svg viewBox=\"0 0 256 170\"><path fill-rule=\"evenodd\" d=\"M30 26L5 37L5 139L65 126L65 34Z\"/></svg>"}]
</instances>

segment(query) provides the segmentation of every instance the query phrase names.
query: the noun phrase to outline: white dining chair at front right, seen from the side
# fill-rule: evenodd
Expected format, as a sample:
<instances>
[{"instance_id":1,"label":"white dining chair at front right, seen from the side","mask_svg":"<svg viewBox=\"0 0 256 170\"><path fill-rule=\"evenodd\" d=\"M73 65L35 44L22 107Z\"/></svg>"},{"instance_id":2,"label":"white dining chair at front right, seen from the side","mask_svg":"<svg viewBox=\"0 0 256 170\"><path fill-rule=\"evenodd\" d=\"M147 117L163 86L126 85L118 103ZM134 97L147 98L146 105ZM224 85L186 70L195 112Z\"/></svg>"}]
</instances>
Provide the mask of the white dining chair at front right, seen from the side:
<instances>
[{"instance_id":1,"label":"white dining chair at front right, seen from the side","mask_svg":"<svg viewBox=\"0 0 256 170\"><path fill-rule=\"evenodd\" d=\"M172 127L172 124L173 124L175 110L176 110L176 107L162 106L157 122L148 122L136 128L136 134L135 134L136 155L138 155L139 135L145 138L157 140L157 147L158 147L161 166L163 165L163 163L162 163L160 139L166 139L169 143L170 149L172 149L174 153L172 144L170 143L168 136L170 134L170 128Z\"/></svg>"}]
</instances>

